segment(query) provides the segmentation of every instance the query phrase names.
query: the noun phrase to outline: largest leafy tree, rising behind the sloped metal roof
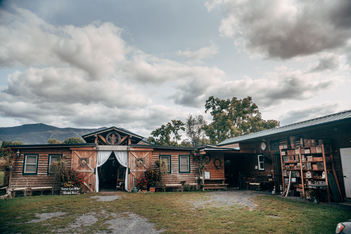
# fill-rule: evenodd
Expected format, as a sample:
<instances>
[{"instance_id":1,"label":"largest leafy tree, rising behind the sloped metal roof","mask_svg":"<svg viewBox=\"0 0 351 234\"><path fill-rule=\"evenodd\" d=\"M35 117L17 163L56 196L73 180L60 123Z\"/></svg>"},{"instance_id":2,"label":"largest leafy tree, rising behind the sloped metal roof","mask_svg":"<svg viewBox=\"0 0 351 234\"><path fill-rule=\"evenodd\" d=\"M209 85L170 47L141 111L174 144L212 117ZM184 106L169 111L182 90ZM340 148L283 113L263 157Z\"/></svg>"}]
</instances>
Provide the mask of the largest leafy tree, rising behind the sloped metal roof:
<instances>
[{"instance_id":1,"label":"largest leafy tree, rising behind the sloped metal roof","mask_svg":"<svg viewBox=\"0 0 351 234\"><path fill-rule=\"evenodd\" d=\"M204 127L206 135L213 144L228 138L279 127L280 124L277 120L263 120L250 96L242 100L236 97L230 100L210 96L205 109L205 113L211 111L213 117L213 122Z\"/></svg>"}]
</instances>

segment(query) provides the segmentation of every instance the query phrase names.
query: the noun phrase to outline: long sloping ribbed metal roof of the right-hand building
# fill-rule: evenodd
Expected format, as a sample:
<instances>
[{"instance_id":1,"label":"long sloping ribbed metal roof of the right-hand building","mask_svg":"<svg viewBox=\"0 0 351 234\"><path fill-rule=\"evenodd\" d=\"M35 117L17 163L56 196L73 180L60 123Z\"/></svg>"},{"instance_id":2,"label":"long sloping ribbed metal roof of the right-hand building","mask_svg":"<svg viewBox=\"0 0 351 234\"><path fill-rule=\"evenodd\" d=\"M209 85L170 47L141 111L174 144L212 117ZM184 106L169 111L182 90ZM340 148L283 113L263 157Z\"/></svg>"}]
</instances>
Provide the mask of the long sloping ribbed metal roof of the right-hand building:
<instances>
[{"instance_id":1,"label":"long sloping ribbed metal roof of the right-hand building","mask_svg":"<svg viewBox=\"0 0 351 234\"><path fill-rule=\"evenodd\" d=\"M303 122L292 123L290 125L264 130L257 133L251 133L243 136L230 138L220 142L218 146L261 138L267 135L275 135L275 134L289 132L289 131L296 131L304 128L319 127L323 125L329 125L329 124L334 124L337 122L343 122L343 121L349 121L349 120L351 120L351 111L344 111L336 114L326 115L316 119L310 119Z\"/></svg>"}]
</instances>

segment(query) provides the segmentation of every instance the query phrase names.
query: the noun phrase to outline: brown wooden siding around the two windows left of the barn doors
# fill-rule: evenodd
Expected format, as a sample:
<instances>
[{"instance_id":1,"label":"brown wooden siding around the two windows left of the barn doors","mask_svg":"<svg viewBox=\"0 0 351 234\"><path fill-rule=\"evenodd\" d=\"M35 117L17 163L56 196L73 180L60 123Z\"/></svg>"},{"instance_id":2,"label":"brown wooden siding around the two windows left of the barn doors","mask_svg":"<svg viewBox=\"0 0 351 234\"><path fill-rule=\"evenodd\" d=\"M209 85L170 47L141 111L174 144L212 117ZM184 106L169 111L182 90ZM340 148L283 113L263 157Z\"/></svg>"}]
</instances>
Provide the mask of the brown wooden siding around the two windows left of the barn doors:
<instances>
[{"instance_id":1,"label":"brown wooden siding around the two windows left of the barn doors","mask_svg":"<svg viewBox=\"0 0 351 234\"><path fill-rule=\"evenodd\" d=\"M14 152L17 151L17 149L14 149ZM67 161L67 166L68 168L71 168L71 156L72 152L69 149L69 147L60 147L60 148L22 148L21 150L21 156L16 157L14 156L14 165L15 168L11 172L11 178L10 178L10 187L14 187L16 185L16 181L24 176L28 180L28 188L31 188L33 185L33 182L35 179L38 177L42 177L43 179L51 179L53 178L53 175L47 175L47 166L48 166L48 155L49 154L60 154L60 151L62 152L62 158ZM37 175L22 175L22 169L23 169L23 160L24 160L24 154L39 154L39 162L38 162L38 174ZM19 193L20 195L20 193Z\"/></svg>"}]
</instances>

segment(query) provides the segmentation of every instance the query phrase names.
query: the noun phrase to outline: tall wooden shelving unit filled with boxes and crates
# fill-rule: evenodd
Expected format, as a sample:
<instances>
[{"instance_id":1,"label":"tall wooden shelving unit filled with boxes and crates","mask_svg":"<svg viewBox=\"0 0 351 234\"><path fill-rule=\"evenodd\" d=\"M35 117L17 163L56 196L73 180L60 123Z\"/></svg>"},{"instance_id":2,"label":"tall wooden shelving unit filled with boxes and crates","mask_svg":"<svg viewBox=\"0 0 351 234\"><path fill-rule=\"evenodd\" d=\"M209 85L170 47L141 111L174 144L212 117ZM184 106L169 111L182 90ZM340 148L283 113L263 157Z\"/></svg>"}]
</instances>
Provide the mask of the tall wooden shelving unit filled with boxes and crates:
<instances>
[{"instance_id":1,"label":"tall wooden shelving unit filled with boxes and crates","mask_svg":"<svg viewBox=\"0 0 351 234\"><path fill-rule=\"evenodd\" d=\"M318 147L318 153L315 150L317 149L316 147ZM316 153L311 153L311 151ZM289 183L289 181L285 182L285 179L289 180L289 173L292 173L292 178L296 178L296 182L292 182L291 187L298 188L297 190L303 193L305 193L305 190L309 189L308 181L316 180L319 181L319 183L322 182L326 184L327 198L328 202L330 202L330 187L328 185L327 173L333 173L336 178L330 145L280 149L280 158L282 162L282 179L284 187ZM307 161L307 159L309 161ZM310 161L311 159L313 161ZM309 163L308 168L307 163ZM291 166L293 166L293 168L291 168ZM322 178L323 172L325 173L325 178Z\"/></svg>"}]
</instances>

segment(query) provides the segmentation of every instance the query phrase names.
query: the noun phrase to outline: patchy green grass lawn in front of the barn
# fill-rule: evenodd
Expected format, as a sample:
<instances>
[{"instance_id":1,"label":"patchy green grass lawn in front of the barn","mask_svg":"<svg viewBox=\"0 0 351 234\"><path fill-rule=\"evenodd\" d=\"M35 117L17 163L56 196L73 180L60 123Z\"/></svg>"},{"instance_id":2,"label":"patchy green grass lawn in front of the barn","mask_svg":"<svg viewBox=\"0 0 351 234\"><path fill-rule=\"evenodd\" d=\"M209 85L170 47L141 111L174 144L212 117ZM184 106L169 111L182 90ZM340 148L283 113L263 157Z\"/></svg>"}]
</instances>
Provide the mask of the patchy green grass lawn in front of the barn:
<instances>
[{"instance_id":1,"label":"patchy green grass lawn in front of the barn","mask_svg":"<svg viewBox=\"0 0 351 234\"><path fill-rule=\"evenodd\" d=\"M156 229L164 229L163 233L328 234L335 232L337 223L351 218L351 210L277 196L253 198L258 205L254 210L220 203L207 203L204 208L194 208L192 202L209 200L206 192L121 193L121 199L108 202L90 202L90 196L93 195L47 195L0 200L0 233L52 233L50 229L65 228L77 216L88 212L94 212L98 221L83 228L80 233L108 232L108 225L104 223L113 217L105 214L123 212L144 216L155 223ZM35 213L58 211L66 214L62 218L26 224L27 221L38 219ZM272 218L271 215L280 218ZM136 233L137 230L138 228L135 229Z\"/></svg>"}]
</instances>

